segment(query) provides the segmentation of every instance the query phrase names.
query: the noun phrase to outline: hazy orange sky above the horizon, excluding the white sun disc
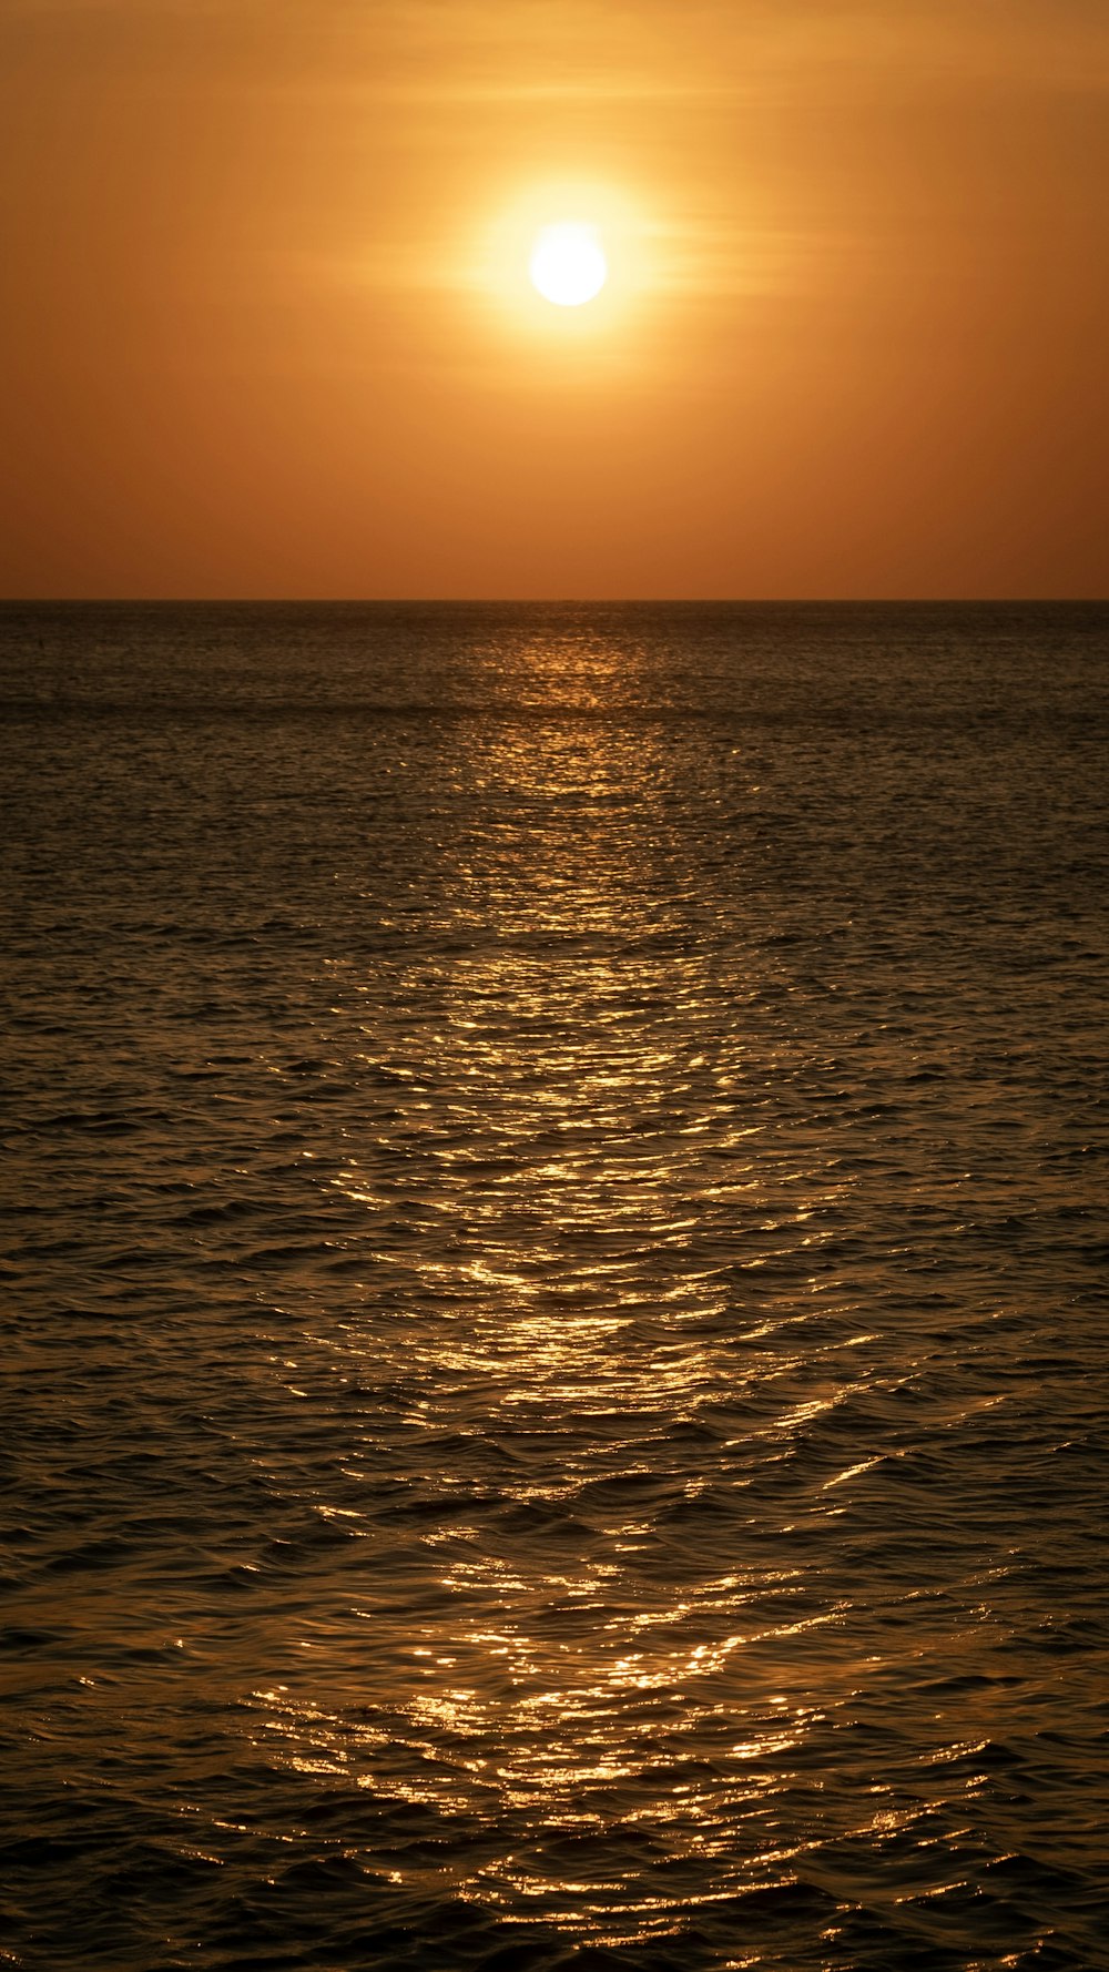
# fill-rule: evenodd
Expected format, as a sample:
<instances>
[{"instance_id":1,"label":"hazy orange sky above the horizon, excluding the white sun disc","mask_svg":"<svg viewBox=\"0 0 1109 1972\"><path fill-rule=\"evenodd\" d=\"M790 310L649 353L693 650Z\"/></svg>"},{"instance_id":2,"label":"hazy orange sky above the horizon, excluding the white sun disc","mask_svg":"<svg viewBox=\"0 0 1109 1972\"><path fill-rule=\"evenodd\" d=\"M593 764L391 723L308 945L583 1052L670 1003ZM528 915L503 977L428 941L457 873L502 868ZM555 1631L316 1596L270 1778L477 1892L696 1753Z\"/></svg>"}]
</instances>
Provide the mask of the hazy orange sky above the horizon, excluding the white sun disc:
<instances>
[{"instance_id":1,"label":"hazy orange sky above the horizon, excluding the white sun disc","mask_svg":"<svg viewBox=\"0 0 1109 1972\"><path fill-rule=\"evenodd\" d=\"M0 0L0 150L2 594L1109 594L1109 0Z\"/></svg>"}]
</instances>

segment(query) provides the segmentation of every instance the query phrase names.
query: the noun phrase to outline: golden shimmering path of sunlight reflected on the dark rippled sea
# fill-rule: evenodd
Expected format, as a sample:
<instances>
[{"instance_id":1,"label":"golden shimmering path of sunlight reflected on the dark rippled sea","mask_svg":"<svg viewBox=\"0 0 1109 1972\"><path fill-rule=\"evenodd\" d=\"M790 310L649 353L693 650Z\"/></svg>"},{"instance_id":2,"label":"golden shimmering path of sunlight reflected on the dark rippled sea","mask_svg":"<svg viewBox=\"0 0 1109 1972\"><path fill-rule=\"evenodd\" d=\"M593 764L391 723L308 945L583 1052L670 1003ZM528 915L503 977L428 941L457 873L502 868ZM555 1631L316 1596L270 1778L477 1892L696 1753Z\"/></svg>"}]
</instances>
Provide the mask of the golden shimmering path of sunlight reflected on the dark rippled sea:
<instances>
[{"instance_id":1,"label":"golden shimmering path of sunlight reflected on the dark rippled sea","mask_svg":"<svg viewBox=\"0 0 1109 1972\"><path fill-rule=\"evenodd\" d=\"M953 1895L991 1698L924 1726L935 1800L882 1773L886 1708L906 1662L941 1686L951 1611L896 1511L878 1617L856 1599L922 1367L912 1327L858 1311L860 1171L829 1152L766 956L744 978L734 903L691 866L659 736L596 716L635 651L517 663L533 710L454 736L480 805L460 828L446 803L420 870L428 949L385 994L341 982L351 1073L385 1094L337 1185L379 1244L316 1341L339 1382L385 1382L395 1420L385 1445L337 1444L353 1503L322 1513L381 1544L357 1485L385 1467L416 1524L385 1538L345 1637L306 1635L304 1674L257 1694L260 1726L306 1773L472 1826L462 1899L610 1946L762 1893L827 1917L821 1869L831 1887L910 1840L916 1891ZM570 718L543 712L551 672ZM924 1203L927 1162L904 1156ZM931 1424L997 1402L963 1390ZM963 1658L997 1643L993 1574ZM416 1850L393 1879L418 1893L438 1858ZM764 1960L738 1931L728 1962Z\"/></svg>"}]
</instances>

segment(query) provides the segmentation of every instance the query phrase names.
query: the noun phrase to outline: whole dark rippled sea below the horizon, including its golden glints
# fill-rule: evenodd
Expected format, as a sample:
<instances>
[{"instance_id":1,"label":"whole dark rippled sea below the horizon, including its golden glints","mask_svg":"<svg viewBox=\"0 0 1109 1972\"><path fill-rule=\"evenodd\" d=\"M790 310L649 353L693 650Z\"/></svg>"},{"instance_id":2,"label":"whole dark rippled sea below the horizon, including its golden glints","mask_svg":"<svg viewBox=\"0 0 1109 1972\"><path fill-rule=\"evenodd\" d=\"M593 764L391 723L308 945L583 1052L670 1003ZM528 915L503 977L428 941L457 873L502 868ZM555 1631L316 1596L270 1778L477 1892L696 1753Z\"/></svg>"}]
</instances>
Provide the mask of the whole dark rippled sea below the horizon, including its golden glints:
<instances>
[{"instance_id":1,"label":"whole dark rippled sea below the horizon, including its golden glints","mask_svg":"<svg viewBox=\"0 0 1109 1972\"><path fill-rule=\"evenodd\" d=\"M1109 1966L1095 607L0 619L0 1962Z\"/></svg>"}]
</instances>

